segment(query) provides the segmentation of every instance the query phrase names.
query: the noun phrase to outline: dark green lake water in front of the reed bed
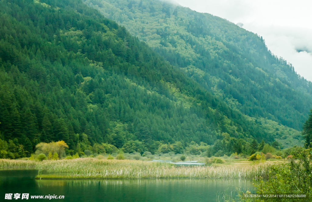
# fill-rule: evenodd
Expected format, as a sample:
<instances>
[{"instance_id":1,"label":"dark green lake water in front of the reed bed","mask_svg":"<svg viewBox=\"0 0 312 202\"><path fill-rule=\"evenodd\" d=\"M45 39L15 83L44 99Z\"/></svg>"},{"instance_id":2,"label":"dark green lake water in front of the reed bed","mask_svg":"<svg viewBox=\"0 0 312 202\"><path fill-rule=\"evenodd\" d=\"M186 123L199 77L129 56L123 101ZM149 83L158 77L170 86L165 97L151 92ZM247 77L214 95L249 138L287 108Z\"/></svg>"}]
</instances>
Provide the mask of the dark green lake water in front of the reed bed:
<instances>
[{"instance_id":1,"label":"dark green lake water in front of the reed bed","mask_svg":"<svg viewBox=\"0 0 312 202\"><path fill-rule=\"evenodd\" d=\"M6 201L4 198L7 193L12 193L13 196L15 193L29 193L29 195L65 196L64 199L49 201L215 202L217 195L219 195L219 200L223 201L221 200L222 193L226 190L230 194L231 190L236 190L236 187L241 187L243 191L252 189L250 180L36 180L37 174L37 170L0 170L0 201ZM48 201L48 199L30 199L29 197L27 201Z\"/></svg>"}]
</instances>

